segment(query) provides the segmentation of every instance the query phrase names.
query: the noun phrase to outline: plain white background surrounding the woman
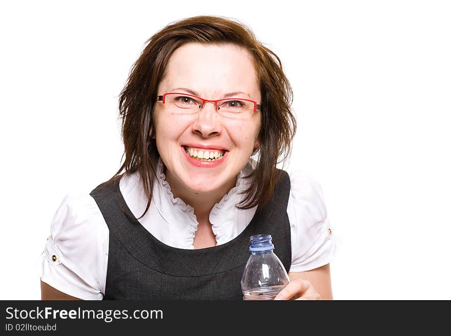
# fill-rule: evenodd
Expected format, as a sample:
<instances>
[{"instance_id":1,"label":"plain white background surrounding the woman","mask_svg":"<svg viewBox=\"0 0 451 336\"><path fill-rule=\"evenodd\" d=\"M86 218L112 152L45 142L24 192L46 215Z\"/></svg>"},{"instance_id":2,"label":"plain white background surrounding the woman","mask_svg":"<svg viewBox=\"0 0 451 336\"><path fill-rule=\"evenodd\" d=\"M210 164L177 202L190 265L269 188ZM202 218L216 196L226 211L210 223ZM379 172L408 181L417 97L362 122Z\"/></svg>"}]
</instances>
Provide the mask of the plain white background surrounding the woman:
<instances>
[{"instance_id":1,"label":"plain white background surrounding the woman","mask_svg":"<svg viewBox=\"0 0 451 336\"><path fill-rule=\"evenodd\" d=\"M120 167L117 96L146 40L223 15L282 60L339 238L335 299L451 299L451 10L446 1L0 5L0 299L40 299L33 266L71 190Z\"/></svg>"}]
</instances>

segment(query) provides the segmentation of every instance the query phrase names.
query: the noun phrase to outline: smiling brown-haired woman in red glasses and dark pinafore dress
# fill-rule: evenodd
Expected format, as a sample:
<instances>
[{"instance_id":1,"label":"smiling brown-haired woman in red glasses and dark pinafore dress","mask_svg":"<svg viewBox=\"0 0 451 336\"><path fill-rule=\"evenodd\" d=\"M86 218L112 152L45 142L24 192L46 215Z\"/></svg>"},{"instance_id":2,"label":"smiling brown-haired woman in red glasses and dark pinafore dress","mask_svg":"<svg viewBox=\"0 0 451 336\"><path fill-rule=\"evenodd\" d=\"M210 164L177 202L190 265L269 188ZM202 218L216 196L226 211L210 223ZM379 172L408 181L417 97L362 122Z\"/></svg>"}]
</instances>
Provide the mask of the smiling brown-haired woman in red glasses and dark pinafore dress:
<instances>
[{"instance_id":1,"label":"smiling brown-haired woman in red glasses and dark pinafore dress","mask_svg":"<svg viewBox=\"0 0 451 336\"><path fill-rule=\"evenodd\" d=\"M279 58L235 21L152 36L119 99L125 162L63 200L42 298L241 299L249 237L264 233L291 279L276 299L332 299L321 190L276 168L296 130L291 96Z\"/></svg>"}]
</instances>

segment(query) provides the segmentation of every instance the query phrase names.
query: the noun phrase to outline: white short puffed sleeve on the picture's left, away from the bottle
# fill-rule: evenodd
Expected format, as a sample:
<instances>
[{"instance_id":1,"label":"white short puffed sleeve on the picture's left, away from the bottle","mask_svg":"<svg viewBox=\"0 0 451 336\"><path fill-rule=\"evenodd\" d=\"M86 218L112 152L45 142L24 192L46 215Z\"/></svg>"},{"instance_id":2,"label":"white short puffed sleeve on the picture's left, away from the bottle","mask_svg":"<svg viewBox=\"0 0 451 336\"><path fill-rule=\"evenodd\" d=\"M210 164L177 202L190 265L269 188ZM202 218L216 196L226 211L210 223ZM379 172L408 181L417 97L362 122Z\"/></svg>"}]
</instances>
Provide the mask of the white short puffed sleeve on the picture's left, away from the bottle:
<instances>
[{"instance_id":1,"label":"white short puffed sleeve on the picture's left, away from the bottle","mask_svg":"<svg viewBox=\"0 0 451 336\"><path fill-rule=\"evenodd\" d=\"M68 295L101 300L105 293L109 231L95 200L71 192L53 216L35 264L40 279Z\"/></svg>"}]
</instances>

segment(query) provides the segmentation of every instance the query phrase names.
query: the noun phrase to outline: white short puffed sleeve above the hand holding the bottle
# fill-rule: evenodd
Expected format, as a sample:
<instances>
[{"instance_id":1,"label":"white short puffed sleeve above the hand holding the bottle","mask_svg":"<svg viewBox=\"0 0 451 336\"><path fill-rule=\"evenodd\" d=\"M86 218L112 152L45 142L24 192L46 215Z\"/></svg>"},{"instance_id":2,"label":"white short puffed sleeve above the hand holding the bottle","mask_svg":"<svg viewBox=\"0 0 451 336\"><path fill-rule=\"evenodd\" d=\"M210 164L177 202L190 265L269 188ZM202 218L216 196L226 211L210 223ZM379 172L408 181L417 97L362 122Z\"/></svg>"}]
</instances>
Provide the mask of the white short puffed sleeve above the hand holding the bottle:
<instances>
[{"instance_id":1,"label":"white short puffed sleeve above the hand holding the bottle","mask_svg":"<svg viewBox=\"0 0 451 336\"><path fill-rule=\"evenodd\" d=\"M287 214L291 227L290 272L304 272L329 263L336 252L336 235L327 218L319 183L303 170L290 172Z\"/></svg>"}]
</instances>

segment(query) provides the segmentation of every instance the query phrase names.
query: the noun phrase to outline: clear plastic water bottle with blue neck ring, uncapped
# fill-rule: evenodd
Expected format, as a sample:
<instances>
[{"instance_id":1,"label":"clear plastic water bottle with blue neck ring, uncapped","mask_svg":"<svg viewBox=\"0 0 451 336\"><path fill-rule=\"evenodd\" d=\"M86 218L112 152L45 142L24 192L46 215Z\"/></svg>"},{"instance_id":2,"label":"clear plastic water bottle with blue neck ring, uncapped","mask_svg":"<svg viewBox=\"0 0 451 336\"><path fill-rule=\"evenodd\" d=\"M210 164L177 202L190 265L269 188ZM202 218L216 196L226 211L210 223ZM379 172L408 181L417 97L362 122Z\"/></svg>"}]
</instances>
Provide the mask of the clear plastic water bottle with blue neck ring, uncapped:
<instances>
[{"instance_id":1,"label":"clear plastic water bottle with blue neck ring, uncapped","mask_svg":"<svg viewBox=\"0 0 451 336\"><path fill-rule=\"evenodd\" d=\"M290 278L273 252L271 235L251 236L251 256L241 278L243 300L274 300Z\"/></svg>"}]
</instances>

